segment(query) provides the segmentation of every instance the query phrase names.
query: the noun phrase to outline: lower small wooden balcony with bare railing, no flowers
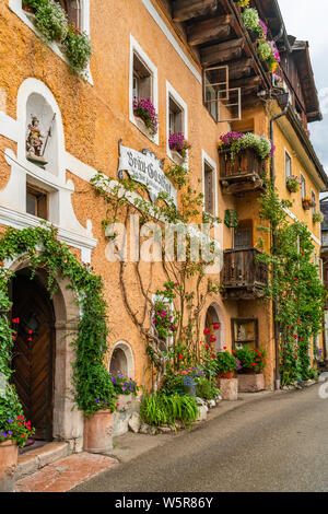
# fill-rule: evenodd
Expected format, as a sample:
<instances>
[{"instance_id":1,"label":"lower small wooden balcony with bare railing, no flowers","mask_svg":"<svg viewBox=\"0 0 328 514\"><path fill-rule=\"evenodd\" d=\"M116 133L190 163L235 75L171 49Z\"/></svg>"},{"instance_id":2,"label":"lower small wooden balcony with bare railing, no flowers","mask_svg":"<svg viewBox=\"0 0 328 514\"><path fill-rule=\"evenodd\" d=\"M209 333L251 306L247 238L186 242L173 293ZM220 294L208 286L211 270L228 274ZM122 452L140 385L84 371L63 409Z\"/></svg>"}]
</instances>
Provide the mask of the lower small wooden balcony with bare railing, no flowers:
<instances>
[{"instance_id":1,"label":"lower small wooden balcony with bare railing, no flowers","mask_svg":"<svg viewBox=\"0 0 328 514\"><path fill-rule=\"evenodd\" d=\"M263 295L268 285L268 268L256 259L256 248L224 252L223 280L226 300L255 300Z\"/></svg>"}]
</instances>

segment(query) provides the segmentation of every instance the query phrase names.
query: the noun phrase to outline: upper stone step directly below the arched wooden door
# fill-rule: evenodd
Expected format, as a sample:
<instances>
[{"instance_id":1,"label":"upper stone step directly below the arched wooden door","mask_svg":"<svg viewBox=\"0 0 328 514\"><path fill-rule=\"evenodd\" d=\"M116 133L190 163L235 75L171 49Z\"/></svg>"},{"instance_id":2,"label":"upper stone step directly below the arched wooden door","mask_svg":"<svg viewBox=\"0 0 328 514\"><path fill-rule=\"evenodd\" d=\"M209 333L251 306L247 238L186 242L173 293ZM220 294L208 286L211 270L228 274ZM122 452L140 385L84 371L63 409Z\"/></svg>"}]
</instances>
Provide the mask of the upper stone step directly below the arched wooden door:
<instances>
[{"instance_id":1,"label":"upper stone step directly below the arched wooden door","mask_svg":"<svg viewBox=\"0 0 328 514\"><path fill-rule=\"evenodd\" d=\"M68 443L48 443L40 448L30 449L25 454L19 455L19 463L15 479L32 475L48 464L52 464L69 454Z\"/></svg>"}]
</instances>

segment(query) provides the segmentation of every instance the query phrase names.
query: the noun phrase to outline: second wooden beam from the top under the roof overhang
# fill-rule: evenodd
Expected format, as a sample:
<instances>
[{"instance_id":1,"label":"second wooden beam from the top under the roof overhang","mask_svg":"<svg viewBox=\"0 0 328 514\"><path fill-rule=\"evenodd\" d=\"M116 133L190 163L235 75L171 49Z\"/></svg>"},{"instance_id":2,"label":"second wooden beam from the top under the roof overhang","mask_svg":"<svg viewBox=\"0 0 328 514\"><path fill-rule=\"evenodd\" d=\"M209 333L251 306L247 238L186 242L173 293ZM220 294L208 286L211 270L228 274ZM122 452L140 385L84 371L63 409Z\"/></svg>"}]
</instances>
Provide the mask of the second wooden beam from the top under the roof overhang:
<instances>
[{"instance_id":1,"label":"second wooden beam from the top under the roof overhang","mask_svg":"<svg viewBox=\"0 0 328 514\"><path fill-rule=\"evenodd\" d=\"M227 37L231 33L231 14L195 23L188 31L188 43L190 46L196 46Z\"/></svg>"}]
</instances>

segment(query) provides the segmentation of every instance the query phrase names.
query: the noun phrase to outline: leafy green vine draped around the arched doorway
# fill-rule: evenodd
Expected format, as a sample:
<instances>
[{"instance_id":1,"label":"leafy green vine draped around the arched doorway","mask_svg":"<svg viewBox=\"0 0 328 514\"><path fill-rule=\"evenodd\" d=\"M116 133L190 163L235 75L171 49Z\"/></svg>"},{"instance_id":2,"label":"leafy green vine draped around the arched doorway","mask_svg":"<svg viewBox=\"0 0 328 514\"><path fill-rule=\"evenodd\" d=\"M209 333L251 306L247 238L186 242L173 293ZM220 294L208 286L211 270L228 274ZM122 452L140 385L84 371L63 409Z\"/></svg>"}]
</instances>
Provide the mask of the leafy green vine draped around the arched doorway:
<instances>
[{"instance_id":1,"label":"leafy green vine draped around the arched doorway","mask_svg":"<svg viewBox=\"0 0 328 514\"><path fill-rule=\"evenodd\" d=\"M102 278L81 265L65 243L57 240L52 226L38 226L22 231L9 227L0 240L0 262L5 259L28 259L32 278L38 268L48 273L47 290L52 296L58 288L59 276L69 280L82 312L74 341L77 359L73 363L74 401L86 417L99 409L115 410L115 394L109 374L104 365L107 351L106 303L103 297ZM9 282L14 276L0 268L0 373L10 378L13 331L7 316L11 302L8 297Z\"/></svg>"}]
</instances>

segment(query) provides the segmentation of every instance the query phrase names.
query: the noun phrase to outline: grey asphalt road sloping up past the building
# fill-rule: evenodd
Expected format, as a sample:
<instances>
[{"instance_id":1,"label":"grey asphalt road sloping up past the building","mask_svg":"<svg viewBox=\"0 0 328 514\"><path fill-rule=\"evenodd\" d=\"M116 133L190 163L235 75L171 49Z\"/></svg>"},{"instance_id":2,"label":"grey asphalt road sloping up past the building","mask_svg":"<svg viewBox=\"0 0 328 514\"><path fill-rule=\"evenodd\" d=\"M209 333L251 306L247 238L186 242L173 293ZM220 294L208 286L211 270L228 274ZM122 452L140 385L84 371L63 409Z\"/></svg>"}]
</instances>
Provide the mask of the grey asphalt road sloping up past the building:
<instances>
[{"instance_id":1,"label":"grey asphalt road sloping up past the building","mask_svg":"<svg viewBox=\"0 0 328 514\"><path fill-rule=\"evenodd\" d=\"M328 491L328 399L318 387L242 402L73 491Z\"/></svg>"}]
</instances>

